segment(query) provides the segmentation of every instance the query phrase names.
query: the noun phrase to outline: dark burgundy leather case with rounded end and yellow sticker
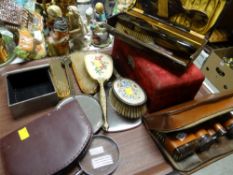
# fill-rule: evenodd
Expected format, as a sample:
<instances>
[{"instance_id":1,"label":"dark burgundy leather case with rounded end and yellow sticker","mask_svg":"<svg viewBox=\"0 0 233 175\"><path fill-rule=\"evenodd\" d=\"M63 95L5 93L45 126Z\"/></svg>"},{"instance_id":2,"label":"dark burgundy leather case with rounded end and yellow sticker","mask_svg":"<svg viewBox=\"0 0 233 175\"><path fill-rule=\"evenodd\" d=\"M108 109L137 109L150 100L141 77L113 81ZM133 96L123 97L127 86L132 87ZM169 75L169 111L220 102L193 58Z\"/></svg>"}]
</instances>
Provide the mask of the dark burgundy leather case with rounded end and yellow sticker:
<instances>
[{"instance_id":1,"label":"dark burgundy leather case with rounded end and yellow sticker","mask_svg":"<svg viewBox=\"0 0 233 175\"><path fill-rule=\"evenodd\" d=\"M4 167L11 175L50 175L78 158L92 129L76 101L1 139Z\"/></svg>"}]
</instances>

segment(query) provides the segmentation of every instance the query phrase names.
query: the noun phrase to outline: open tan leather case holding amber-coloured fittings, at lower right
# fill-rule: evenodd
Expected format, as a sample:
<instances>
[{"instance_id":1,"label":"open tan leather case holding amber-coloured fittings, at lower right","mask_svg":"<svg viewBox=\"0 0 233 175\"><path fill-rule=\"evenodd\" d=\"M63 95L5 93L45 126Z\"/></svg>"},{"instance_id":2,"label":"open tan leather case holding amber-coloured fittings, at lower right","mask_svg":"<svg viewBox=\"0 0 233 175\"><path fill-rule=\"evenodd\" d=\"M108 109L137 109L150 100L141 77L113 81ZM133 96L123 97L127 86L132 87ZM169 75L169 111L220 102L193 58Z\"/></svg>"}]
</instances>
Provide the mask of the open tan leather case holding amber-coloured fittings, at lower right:
<instances>
[{"instance_id":1,"label":"open tan leather case holding amber-coloured fittings, at lower right","mask_svg":"<svg viewBox=\"0 0 233 175\"><path fill-rule=\"evenodd\" d=\"M190 174L233 152L233 91L211 94L144 116L163 155Z\"/></svg>"}]
</instances>

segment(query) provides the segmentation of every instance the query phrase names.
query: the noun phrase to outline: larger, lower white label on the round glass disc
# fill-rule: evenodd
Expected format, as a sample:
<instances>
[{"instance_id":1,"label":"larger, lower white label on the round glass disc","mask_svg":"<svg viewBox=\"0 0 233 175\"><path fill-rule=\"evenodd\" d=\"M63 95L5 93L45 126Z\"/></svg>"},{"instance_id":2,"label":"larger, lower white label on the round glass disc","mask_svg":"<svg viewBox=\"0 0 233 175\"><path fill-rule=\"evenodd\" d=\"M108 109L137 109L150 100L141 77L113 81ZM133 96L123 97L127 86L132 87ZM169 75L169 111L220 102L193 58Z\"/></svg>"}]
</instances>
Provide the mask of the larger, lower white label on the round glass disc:
<instances>
[{"instance_id":1,"label":"larger, lower white label on the round glass disc","mask_svg":"<svg viewBox=\"0 0 233 175\"><path fill-rule=\"evenodd\" d=\"M113 164L111 155L104 155L104 156L93 158L91 162L92 162L92 166L94 169Z\"/></svg>"}]
</instances>

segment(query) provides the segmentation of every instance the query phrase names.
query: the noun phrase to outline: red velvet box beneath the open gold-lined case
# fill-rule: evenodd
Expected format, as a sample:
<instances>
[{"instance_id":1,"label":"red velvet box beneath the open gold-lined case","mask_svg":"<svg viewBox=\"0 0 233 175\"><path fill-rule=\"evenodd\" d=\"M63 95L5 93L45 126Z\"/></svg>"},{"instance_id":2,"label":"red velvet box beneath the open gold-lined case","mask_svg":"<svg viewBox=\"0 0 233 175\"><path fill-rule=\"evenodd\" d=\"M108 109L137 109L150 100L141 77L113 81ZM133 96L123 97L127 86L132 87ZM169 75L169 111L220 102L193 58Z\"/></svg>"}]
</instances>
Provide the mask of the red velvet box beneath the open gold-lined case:
<instances>
[{"instance_id":1,"label":"red velvet box beneath the open gold-lined case","mask_svg":"<svg viewBox=\"0 0 233 175\"><path fill-rule=\"evenodd\" d=\"M153 54L116 38L112 57L118 72L135 80L145 90L149 112L193 99L204 80L202 72L194 64L185 71L177 71L161 64Z\"/></svg>"}]
</instances>

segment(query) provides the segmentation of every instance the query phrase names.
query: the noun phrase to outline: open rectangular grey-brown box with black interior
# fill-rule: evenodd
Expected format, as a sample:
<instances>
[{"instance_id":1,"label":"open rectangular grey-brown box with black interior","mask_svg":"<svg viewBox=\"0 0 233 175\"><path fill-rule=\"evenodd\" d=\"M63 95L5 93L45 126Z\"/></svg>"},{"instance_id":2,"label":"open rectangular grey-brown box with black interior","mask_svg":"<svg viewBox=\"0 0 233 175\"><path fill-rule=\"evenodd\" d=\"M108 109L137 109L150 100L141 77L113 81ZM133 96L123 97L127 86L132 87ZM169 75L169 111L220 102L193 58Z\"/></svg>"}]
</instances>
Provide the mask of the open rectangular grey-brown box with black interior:
<instances>
[{"instance_id":1,"label":"open rectangular grey-brown box with black interior","mask_svg":"<svg viewBox=\"0 0 233 175\"><path fill-rule=\"evenodd\" d=\"M6 75L8 106L14 118L43 110L58 103L49 65L36 66Z\"/></svg>"}]
</instances>

